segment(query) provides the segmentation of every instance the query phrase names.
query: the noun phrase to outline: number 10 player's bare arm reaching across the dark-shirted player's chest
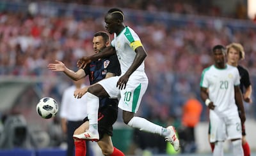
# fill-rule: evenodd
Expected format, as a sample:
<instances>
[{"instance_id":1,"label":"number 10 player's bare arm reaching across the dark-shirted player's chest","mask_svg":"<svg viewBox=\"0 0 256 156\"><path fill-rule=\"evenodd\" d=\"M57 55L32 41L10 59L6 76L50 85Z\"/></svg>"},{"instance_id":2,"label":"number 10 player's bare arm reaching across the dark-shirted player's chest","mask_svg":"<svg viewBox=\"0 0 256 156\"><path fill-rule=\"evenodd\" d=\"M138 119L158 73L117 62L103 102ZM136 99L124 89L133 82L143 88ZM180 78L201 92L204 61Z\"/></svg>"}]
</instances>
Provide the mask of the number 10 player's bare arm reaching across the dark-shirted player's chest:
<instances>
[{"instance_id":1,"label":"number 10 player's bare arm reaching across the dark-shirted player's chest","mask_svg":"<svg viewBox=\"0 0 256 156\"><path fill-rule=\"evenodd\" d=\"M90 55L88 57L82 57L77 61L77 67L84 69L86 67L86 64L92 62L93 60L102 59L105 57L109 57L113 54L115 54L115 48L113 46L107 46L104 48L101 52L95 53L94 55Z\"/></svg>"}]
</instances>

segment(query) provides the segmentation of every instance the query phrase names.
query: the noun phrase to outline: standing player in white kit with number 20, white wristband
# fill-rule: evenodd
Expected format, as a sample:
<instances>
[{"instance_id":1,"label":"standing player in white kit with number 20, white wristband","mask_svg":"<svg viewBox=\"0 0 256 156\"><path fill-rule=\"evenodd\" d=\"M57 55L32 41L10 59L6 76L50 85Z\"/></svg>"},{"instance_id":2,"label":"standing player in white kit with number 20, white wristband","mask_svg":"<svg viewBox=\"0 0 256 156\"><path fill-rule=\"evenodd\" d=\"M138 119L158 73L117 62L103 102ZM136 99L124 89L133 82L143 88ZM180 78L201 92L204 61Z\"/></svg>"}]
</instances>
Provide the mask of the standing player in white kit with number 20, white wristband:
<instances>
[{"instance_id":1,"label":"standing player in white kit with number 20, white wristband","mask_svg":"<svg viewBox=\"0 0 256 156\"><path fill-rule=\"evenodd\" d=\"M234 155L243 155L241 122L245 115L239 89L239 72L225 62L225 47L212 48L214 64L202 72L200 96L210 109L210 142L215 143L213 155L223 155L223 142L232 141ZM241 119L237 111L241 110Z\"/></svg>"}]
</instances>

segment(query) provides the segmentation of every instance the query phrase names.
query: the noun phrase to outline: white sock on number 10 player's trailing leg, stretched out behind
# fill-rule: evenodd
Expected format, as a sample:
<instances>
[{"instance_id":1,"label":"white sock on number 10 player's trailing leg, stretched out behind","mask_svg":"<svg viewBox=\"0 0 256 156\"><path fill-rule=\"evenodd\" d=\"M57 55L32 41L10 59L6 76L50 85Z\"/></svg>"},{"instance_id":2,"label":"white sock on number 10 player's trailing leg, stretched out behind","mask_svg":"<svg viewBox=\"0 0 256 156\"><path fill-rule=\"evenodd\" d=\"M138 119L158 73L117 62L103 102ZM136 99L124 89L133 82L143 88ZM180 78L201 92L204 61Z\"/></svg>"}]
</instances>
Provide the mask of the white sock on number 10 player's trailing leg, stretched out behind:
<instances>
[{"instance_id":1,"label":"white sock on number 10 player's trailing leg, stretched out behind","mask_svg":"<svg viewBox=\"0 0 256 156\"><path fill-rule=\"evenodd\" d=\"M145 118L133 117L128 124L129 126L140 129L140 131L151 132L161 135L163 127L156 125Z\"/></svg>"}]
</instances>

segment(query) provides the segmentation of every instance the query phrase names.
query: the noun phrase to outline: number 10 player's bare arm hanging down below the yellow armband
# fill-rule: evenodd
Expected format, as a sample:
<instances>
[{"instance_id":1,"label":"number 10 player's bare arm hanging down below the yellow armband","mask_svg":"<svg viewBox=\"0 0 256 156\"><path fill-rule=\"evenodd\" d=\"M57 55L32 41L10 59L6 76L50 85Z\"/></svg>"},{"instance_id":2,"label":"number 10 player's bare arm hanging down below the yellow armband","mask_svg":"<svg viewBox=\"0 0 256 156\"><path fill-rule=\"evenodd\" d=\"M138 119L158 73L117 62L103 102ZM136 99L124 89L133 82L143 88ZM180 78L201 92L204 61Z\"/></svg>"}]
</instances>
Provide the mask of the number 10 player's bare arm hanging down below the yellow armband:
<instances>
[{"instance_id":1,"label":"number 10 player's bare arm hanging down below the yellow armband","mask_svg":"<svg viewBox=\"0 0 256 156\"><path fill-rule=\"evenodd\" d=\"M136 48L134 51L136 52L136 56L132 62L132 65L116 83L116 87L119 87L119 89L121 90L125 89L126 83L128 82L131 74L141 65L143 60L145 60L145 58L147 57L147 52L144 50L143 46L138 46L138 48Z\"/></svg>"}]
</instances>

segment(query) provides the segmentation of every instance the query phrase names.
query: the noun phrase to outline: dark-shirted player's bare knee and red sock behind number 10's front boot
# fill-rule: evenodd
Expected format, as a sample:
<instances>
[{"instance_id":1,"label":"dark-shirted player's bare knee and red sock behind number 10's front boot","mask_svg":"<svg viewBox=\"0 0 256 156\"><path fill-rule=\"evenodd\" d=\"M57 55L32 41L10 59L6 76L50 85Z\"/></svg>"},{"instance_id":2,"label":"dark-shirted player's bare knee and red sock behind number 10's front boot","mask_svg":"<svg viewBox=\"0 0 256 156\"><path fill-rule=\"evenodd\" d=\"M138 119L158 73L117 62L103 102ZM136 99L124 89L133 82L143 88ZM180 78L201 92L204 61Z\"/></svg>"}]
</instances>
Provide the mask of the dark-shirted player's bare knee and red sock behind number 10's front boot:
<instances>
[{"instance_id":1,"label":"dark-shirted player's bare knee and red sock behind number 10's front boot","mask_svg":"<svg viewBox=\"0 0 256 156\"><path fill-rule=\"evenodd\" d=\"M74 135L81 134L86 131L89 127L89 122L84 122L80 125L76 131L74 131ZM76 156L85 156L86 155L86 141L84 139L74 138L75 143L75 153Z\"/></svg>"}]
</instances>

